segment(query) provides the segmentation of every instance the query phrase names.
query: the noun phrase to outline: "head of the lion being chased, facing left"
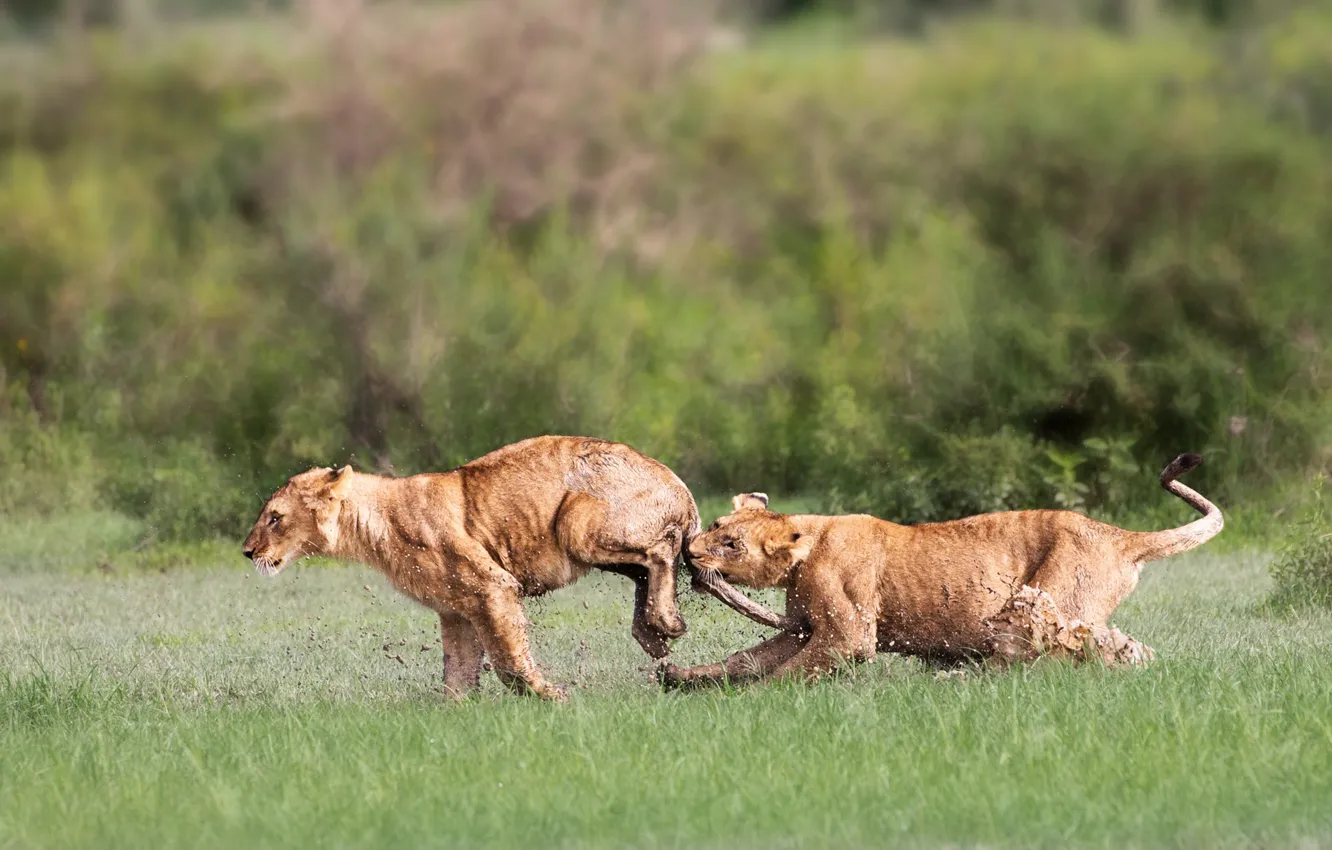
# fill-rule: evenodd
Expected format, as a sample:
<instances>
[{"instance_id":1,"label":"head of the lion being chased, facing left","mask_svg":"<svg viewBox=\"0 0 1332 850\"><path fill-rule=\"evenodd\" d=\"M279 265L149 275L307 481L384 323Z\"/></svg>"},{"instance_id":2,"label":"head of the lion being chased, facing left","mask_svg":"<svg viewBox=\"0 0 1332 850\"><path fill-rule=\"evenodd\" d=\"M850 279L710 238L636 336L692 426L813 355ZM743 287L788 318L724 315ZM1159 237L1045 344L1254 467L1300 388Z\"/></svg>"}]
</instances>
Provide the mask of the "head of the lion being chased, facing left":
<instances>
[{"instance_id":1,"label":"head of the lion being chased, facing left","mask_svg":"<svg viewBox=\"0 0 1332 850\"><path fill-rule=\"evenodd\" d=\"M241 554L268 577L298 558L330 554L337 545L342 497L353 474L350 466L324 466L293 476L264 505Z\"/></svg>"}]
</instances>

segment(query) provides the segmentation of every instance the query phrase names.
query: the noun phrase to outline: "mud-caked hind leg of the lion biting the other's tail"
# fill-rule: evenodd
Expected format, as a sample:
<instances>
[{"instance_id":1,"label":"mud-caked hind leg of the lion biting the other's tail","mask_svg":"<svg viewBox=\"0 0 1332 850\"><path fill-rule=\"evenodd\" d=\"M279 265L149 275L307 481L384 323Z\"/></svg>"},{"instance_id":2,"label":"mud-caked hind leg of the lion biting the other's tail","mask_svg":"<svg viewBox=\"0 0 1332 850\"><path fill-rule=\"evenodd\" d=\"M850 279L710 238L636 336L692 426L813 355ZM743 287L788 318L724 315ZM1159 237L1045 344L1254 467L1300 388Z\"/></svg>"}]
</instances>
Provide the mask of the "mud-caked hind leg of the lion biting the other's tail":
<instances>
[{"instance_id":1,"label":"mud-caked hind leg of the lion biting the other's tail","mask_svg":"<svg viewBox=\"0 0 1332 850\"><path fill-rule=\"evenodd\" d=\"M988 654L1000 666L1035 661L1042 655L1074 661L1100 659L1107 666L1138 666L1156 653L1119 629L1066 620L1044 590L1023 585L998 614L986 621Z\"/></svg>"}]
</instances>

